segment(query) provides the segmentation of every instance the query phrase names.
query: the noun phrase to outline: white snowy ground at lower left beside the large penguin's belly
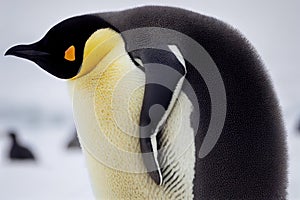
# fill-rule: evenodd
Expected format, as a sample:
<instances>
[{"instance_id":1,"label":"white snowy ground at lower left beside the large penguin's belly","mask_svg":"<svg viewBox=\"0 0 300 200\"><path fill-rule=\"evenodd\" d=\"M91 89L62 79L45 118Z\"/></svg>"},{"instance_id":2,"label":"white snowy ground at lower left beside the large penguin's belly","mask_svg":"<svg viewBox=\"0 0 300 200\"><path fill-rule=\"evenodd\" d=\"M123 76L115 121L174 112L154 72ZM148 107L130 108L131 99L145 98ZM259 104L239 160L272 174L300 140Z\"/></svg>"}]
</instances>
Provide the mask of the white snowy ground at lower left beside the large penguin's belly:
<instances>
[{"instance_id":1,"label":"white snowy ground at lower left beside the large penguin's belly","mask_svg":"<svg viewBox=\"0 0 300 200\"><path fill-rule=\"evenodd\" d=\"M70 134L65 130L23 132L37 162L8 161L3 155L9 143L0 140L1 200L89 200L93 199L87 170L79 149L66 150Z\"/></svg>"}]
</instances>

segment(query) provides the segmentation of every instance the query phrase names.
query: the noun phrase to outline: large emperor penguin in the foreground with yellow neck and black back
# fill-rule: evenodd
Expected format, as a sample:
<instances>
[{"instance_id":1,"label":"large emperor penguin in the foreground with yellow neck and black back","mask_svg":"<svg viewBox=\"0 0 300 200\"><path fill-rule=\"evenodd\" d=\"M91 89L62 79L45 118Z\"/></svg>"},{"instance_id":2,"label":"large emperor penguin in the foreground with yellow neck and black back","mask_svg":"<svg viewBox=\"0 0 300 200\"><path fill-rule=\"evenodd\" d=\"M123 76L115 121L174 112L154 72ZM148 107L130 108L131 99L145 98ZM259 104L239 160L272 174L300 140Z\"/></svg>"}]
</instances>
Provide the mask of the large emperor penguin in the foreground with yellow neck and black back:
<instances>
[{"instance_id":1,"label":"large emperor penguin in the foreground with yellow neck and black back","mask_svg":"<svg viewBox=\"0 0 300 200\"><path fill-rule=\"evenodd\" d=\"M280 108L224 22L145 6L66 19L15 55L66 79L97 199L286 199Z\"/></svg>"}]
</instances>

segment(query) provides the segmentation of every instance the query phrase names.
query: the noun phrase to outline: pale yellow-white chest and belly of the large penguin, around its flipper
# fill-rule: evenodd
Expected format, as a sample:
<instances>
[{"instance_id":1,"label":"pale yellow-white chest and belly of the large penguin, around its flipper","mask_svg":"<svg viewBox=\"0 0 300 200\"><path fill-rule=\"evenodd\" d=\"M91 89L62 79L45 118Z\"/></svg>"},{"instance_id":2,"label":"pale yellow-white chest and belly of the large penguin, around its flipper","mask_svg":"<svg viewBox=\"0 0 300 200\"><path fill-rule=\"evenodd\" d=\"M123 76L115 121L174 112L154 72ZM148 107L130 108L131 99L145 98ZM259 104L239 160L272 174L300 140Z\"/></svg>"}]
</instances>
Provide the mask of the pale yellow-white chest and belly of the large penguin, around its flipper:
<instances>
[{"instance_id":1,"label":"pale yellow-white chest and belly of the large penguin, around its flipper","mask_svg":"<svg viewBox=\"0 0 300 200\"><path fill-rule=\"evenodd\" d=\"M105 71L96 68L70 82L75 122L96 197L191 199L195 147L189 122L192 105L187 96L179 95L163 131L160 162L169 177L158 186L143 165L138 138L144 73L127 55L113 63L104 59L101 64L107 65ZM178 188L172 187L176 183L173 173L180 179Z\"/></svg>"}]
</instances>

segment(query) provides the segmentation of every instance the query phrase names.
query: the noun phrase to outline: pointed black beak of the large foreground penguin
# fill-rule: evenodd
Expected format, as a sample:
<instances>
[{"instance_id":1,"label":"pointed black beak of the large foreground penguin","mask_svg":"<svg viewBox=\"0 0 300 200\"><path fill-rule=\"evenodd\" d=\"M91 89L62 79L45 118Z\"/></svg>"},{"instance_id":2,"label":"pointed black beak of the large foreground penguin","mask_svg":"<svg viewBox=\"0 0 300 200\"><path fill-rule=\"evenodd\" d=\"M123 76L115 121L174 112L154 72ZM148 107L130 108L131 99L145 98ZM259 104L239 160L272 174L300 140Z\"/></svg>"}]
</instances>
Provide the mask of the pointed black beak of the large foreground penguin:
<instances>
[{"instance_id":1,"label":"pointed black beak of the large foreground penguin","mask_svg":"<svg viewBox=\"0 0 300 200\"><path fill-rule=\"evenodd\" d=\"M13 55L20 58L25 58L31 61L35 61L37 58L43 56L49 56L47 52L36 50L36 44L30 45L17 45L6 51L5 56Z\"/></svg>"}]
</instances>

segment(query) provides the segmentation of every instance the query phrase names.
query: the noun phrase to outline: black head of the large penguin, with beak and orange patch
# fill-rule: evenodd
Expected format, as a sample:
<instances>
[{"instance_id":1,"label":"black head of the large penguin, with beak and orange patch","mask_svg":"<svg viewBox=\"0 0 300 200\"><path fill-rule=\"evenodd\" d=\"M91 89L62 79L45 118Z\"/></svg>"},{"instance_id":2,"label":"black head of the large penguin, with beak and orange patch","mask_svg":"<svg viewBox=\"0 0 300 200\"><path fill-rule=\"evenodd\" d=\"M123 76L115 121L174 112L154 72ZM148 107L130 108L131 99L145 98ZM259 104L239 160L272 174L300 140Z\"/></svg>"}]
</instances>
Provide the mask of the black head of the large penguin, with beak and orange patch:
<instances>
[{"instance_id":1,"label":"black head of the large penguin, with beak and orange patch","mask_svg":"<svg viewBox=\"0 0 300 200\"><path fill-rule=\"evenodd\" d=\"M105 28L114 30L94 15L72 17L52 27L40 41L14 46L5 55L31 60L57 78L70 79L80 71L88 38Z\"/></svg>"}]
</instances>

